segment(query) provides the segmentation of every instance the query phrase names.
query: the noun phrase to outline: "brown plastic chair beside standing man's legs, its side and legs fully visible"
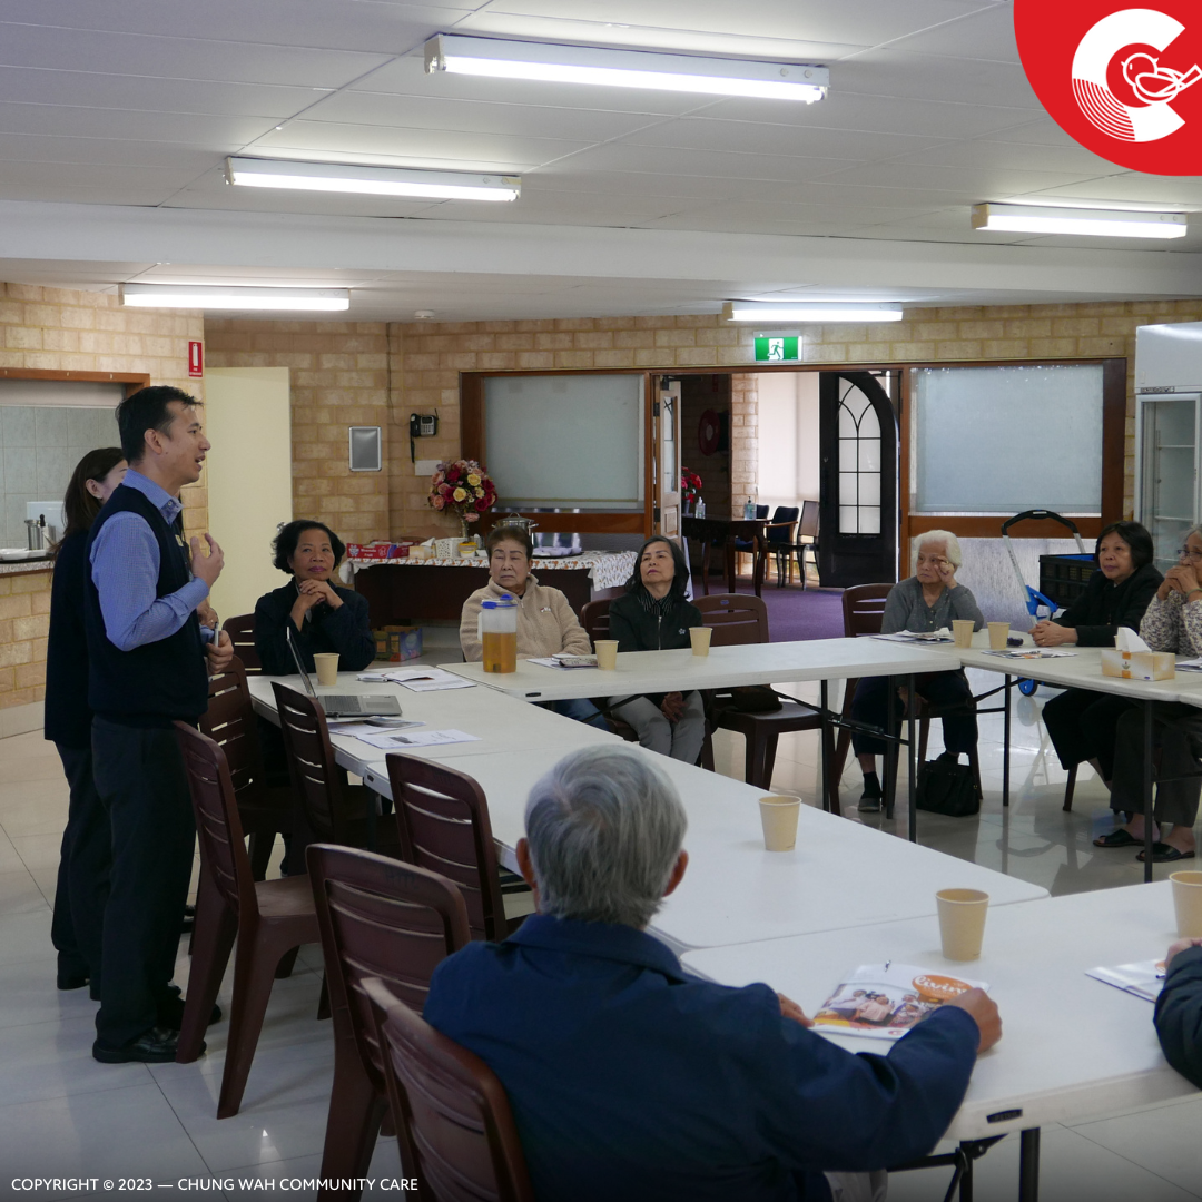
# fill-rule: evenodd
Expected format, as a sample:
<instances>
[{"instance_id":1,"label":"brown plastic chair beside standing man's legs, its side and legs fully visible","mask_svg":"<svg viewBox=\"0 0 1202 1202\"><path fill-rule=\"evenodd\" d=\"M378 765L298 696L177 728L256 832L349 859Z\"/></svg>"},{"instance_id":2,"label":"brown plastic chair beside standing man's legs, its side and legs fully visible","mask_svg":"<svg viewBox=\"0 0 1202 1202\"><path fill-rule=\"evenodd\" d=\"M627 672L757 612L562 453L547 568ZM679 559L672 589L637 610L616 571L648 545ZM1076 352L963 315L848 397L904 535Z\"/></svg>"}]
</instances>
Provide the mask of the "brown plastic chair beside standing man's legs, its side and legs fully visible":
<instances>
[{"instance_id":1,"label":"brown plastic chair beside standing man's legs, its side and legs fully visible","mask_svg":"<svg viewBox=\"0 0 1202 1202\"><path fill-rule=\"evenodd\" d=\"M175 1060L189 1064L201 1053L237 936L230 1039L218 1097L218 1118L226 1119L242 1105L273 978L287 976L296 948L317 942L317 914L307 877L252 879L225 752L185 722L175 722L175 736L201 844L196 936Z\"/></svg>"}]
</instances>

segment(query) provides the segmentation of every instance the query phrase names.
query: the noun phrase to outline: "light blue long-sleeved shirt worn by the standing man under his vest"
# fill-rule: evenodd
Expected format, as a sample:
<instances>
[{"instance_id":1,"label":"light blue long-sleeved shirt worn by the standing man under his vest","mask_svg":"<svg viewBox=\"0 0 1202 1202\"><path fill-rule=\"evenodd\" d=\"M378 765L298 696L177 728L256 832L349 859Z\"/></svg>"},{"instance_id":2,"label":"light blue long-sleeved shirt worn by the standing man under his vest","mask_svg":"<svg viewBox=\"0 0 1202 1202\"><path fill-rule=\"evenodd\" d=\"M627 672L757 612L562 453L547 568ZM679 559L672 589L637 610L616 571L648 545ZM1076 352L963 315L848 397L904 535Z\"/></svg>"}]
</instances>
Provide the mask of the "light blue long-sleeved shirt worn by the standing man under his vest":
<instances>
[{"instance_id":1,"label":"light blue long-sleeved shirt worn by the standing man under his vest","mask_svg":"<svg viewBox=\"0 0 1202 1202\"><path fill-rule=\"evenodd\" d=\"M174 526L184 506L153 480L130 468L121 481L126 488L142 493ZM186 545L180 554L189 560ZM159 542L154 531L137 513L114 513L100 529L91 546L91 579L100 594L100 612L105 633L121 651L157 643L174 635L188 615L208 596L209 587L198 576L182 589L156 597L159 581ZM213 631L201 627L208 642Z\"/></svg>"}]
</instances>

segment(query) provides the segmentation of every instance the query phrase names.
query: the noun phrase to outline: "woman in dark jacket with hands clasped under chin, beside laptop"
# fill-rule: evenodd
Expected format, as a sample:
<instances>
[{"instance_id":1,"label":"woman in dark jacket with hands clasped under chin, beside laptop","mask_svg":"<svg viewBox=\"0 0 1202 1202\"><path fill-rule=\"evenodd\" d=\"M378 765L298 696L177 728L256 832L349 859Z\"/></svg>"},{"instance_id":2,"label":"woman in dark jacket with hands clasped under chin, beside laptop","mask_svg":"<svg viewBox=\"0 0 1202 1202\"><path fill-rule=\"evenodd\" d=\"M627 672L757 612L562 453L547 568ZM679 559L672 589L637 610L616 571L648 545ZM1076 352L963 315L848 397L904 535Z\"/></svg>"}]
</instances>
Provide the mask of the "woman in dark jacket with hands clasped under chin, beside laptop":
<instances>
[{"instance_id":1,"label":"woman in dark jacket with hands clasped under chin, beside laptop","mask_svg":"<svg viewBox=\"0 0 1202 1202\"><path fill-rule=\"evenodd\" d=\"M375 638L365 597L332 583L334 569L346 554L343 540L321 522L290 522L272 543L274 564L292 579L255 606L255 650L269 676L291 676L296 665L288 653L286 630L308 672L313 657L338 653L341 672L359 672L375 659Z\"/></svg>"}]
</instances>

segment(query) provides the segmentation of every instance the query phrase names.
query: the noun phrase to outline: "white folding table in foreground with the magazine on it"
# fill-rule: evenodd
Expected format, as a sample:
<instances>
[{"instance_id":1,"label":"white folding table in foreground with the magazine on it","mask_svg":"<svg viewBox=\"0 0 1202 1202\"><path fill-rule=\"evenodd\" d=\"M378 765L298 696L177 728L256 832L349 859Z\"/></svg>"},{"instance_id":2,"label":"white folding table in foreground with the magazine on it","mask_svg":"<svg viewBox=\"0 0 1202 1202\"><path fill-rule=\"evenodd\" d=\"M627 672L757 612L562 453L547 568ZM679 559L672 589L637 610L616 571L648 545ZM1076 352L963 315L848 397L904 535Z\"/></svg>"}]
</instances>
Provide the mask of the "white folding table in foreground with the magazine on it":
<instances>
[{"instance_id":1,"label":"white folding table in foreground with the magazine on it","mask_svg":"<svg viewBox=\"0 0 1202 1202\"><path fill-rule=\"evenodd\" d=\"M977 1061L946 1138L1020 1131L1019 1198L1035 1202L1041 1126L1197 1093L1165 1061L1152 1005L1085 976L1087 969L1161 957L1176 939L1165 881L990 905L981 958L970 963L942 958L933 916L690 951L683 962L724 984L764 981L810 1014L862 964L892 960L987 982L1002 1040ZM853 1052L887 1048L879 1040L827 1037Z\"/></svg>"}]
</instances>

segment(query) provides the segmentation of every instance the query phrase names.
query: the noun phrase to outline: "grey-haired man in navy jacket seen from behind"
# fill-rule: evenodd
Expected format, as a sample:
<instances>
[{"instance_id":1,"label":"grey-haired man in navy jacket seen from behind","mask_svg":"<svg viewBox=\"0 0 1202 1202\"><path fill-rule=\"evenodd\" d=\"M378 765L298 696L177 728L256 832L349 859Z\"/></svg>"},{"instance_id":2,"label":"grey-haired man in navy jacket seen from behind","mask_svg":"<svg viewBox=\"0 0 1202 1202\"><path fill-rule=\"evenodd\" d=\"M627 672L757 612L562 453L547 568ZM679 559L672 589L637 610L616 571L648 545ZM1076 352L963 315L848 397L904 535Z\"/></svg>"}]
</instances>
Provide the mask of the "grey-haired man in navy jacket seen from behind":
<instances>
[{"instance_id":1,"label":"grey-haired man in navy jacket seen from behind","mask_svg":"<svg viewBox=\"0 0 1202 1202\"><path fill-rule=\"evenodd\" d=\"M859 1202L930 1152L1001 1035L986 994L853 1055L766 984L688 974L645 930L689 863L645 754L573 752L525 820L537 914L444 960L426 1018L501 1079L538 1197Z\"/></svg>"}]
</instances>

